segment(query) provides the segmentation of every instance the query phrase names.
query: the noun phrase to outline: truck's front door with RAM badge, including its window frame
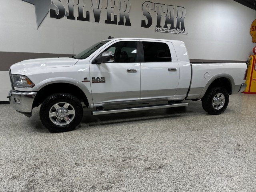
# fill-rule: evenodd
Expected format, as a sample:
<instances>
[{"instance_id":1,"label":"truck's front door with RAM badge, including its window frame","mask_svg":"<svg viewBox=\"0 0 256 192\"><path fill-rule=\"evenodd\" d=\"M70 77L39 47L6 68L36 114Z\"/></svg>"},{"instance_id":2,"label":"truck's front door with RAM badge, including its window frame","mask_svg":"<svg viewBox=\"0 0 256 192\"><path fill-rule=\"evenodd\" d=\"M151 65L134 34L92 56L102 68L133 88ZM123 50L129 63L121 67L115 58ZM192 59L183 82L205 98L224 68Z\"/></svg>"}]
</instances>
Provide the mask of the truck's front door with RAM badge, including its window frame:
<instances>
[{"instance_id":1,"label":"truck's front door with RAM badge, including its window frame","mask_svg":"<svg viewBox=\"0 0 256 192\"><path fill-rule=\"evenodd\" d=\"M94 104L140 100L140 59L137 46L138 40L117 40L102 51L113 52L113 61L102 64L92 64L93 59L90 61Z\"/></svg>"}]
</instances>

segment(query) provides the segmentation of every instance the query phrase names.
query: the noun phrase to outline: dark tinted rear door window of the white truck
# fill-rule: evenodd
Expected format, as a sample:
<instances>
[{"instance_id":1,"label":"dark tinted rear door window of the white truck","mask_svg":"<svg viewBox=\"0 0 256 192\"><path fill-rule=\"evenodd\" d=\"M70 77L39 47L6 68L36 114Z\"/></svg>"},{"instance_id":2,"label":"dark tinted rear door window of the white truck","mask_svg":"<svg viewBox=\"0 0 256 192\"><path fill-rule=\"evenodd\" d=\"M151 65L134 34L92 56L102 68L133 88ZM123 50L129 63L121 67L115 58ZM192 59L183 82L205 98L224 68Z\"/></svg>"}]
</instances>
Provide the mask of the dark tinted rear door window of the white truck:
<instances>
[{"instance_id":1,"label":"dark tinted rear door window of the white truck","mask_svg":"<svg viewBox=\"0 0 256 192\"><path fill-rule=\"evenodd\" d=\"M166 43L142 42L145 62L171 62L172 57Z\"/></svg>"}]
</instances>

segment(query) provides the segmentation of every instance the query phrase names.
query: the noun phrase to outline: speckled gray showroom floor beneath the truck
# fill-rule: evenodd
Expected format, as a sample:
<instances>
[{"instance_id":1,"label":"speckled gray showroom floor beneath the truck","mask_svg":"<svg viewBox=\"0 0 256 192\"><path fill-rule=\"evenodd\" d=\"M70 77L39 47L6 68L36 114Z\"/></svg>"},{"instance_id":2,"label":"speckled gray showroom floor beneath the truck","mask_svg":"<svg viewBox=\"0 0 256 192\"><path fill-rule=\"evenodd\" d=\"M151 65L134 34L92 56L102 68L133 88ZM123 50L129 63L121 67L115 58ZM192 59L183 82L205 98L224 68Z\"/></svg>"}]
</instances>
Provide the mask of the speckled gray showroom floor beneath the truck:
<instances>
[{"instance_id":1,"label":"speckled gray showroom floor beneath the truck","mask_svg":"<svg viewBox=\"0 0 256 192\"><path fill-rule=\"evenodd\" d=\"M255 191L256 95L218 116L190 106L90 116L50 133L0 105L1 192Z\"/></svg>"}]
</instances>

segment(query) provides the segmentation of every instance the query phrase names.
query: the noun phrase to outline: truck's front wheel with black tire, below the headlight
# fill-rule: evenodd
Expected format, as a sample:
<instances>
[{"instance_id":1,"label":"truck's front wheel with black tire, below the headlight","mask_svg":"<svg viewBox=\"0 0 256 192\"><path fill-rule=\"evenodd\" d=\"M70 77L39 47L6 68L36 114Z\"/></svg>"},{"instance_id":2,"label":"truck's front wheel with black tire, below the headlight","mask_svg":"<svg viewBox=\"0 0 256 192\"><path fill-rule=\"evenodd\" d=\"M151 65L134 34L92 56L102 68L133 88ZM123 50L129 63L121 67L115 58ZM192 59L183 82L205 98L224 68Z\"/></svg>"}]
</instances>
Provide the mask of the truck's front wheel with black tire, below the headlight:
<instances>
[{"instance_id":1,"label":"truck's front wheel with black tire, below the headlight","mask_svg":"<svg viewBox=\"0 0 256 192\"><path fill-rule=\"evenodd\" d=\"M50 132L74 130L83 117L83 106L75 96L57 93L44 100L40 120Z\"/></svg>"}]
</instances>

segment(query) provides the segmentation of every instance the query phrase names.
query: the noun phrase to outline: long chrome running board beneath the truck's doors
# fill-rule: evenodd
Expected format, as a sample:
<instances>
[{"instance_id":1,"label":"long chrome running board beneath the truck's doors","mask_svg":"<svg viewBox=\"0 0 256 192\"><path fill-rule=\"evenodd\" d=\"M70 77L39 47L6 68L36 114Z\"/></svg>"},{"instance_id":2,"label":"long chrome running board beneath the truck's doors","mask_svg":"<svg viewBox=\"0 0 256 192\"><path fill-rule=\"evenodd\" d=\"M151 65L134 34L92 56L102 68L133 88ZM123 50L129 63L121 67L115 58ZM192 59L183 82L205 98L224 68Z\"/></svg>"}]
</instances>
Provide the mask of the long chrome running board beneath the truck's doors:
<instances>
[{"instance_id":1,"label":"long chrome running board beneath the truck's doors","mask_svg":"<svg viewBox=\"0 0 256 192\"><path fill-rule=\"evenodd\" d=\"M150 110L150 109L162 109L162 108L184 107L184 106L188 106L188 103L140 106L140 107L113 109L113 110L98 110L98 111L92 111L91 114L102 115L102 114L124 113L124 112L130 112L130 111L143 111L143 110Z\"/></svg>"}]
</instances>

